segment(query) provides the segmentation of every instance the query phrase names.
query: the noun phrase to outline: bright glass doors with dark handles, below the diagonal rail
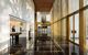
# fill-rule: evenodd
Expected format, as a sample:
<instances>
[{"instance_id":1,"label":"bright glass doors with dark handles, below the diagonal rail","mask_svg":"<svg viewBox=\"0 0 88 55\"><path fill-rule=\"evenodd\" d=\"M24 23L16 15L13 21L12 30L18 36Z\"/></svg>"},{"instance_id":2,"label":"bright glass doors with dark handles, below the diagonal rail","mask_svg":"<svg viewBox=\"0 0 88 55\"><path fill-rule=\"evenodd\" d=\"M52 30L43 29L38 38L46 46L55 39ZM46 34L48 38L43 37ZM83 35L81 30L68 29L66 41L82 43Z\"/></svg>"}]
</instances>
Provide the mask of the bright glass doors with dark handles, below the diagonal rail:
<instances>
[{"instance_id":1,"label":"bright glass doors with dark handles, below the diagonal rail","mask_svg":"<svg viewBox=\"0 0 88 55\"><path fill-rule=\"evenodd\" d=\"M74 14L70 18L70 41L79 44L79 14Z\"/></svg>"}]
</instances>

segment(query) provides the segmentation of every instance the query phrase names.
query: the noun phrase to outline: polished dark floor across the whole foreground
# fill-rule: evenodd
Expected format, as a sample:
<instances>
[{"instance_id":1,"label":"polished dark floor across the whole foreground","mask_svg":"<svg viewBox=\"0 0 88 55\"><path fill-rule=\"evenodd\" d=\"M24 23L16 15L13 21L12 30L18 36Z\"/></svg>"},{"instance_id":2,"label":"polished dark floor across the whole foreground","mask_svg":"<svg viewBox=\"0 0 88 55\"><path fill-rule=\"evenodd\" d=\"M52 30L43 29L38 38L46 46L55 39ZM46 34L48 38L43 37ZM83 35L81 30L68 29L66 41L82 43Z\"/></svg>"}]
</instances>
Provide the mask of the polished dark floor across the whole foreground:
<instances>
[{"instance_id":1,"label":"polished dark floor across the whole foreground","mask_svg":"<svg viewBox=\"0 0 88 55\"><path fill-rule=\"evenodd\" d=\"M62 42L59 46L56 46L56 44L53 42L51 37L46 40L47 37L37 37L34 45L34 52L33 51L26 51L26 38L20 37L20 44L14 45L10 47L9 55L68 55L68 53L73 53L73 43L69 44L69 46ZM70 48L70 52L68 52L68 47ZM79 46L75 45L75 53L76 55L79 55ZM7 54L4 54L7 55Z\"/></svg>"}]
</instances>

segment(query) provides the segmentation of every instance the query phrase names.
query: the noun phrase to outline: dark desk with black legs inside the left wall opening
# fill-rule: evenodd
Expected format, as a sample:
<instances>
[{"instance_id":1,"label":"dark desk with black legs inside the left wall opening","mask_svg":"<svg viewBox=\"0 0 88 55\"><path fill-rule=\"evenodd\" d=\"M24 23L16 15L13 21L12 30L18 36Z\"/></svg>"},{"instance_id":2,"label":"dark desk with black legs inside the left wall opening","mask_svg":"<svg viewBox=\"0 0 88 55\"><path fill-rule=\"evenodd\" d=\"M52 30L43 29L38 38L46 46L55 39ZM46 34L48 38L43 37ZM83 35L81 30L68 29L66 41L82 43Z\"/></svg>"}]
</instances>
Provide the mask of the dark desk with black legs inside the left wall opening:
<instances>
[{"instance_id":1,"label":"dark desk with black legs inside the left wall opening","mask_svg":"<svg viewBox=\"0 0 88 55\"><path fill-rule=\"evenodd\" d=\"M19 35L20 34L21 34L21 32L11 32L10 33L10 36L12 37L10 43L12 45L18 45L19 44Z\"/></svg>"}]
</instances>

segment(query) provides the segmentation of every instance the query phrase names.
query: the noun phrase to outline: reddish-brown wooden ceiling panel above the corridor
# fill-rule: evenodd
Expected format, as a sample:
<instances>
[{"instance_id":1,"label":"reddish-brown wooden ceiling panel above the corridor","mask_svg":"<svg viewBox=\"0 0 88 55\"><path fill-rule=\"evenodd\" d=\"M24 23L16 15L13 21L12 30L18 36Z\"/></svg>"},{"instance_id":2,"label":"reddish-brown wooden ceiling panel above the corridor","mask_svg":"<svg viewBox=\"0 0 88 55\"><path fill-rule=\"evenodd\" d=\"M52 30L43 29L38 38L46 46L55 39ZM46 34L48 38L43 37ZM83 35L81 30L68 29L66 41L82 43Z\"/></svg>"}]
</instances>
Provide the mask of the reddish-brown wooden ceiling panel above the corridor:
<instances>
[{"instance_id":1,"label":"reddish-brown wooden ceiling panel above the corridor","mask_svg":"<svg viewBox=\"0 0 88 55\"><path fill-rule=\"evenodd\" d=\"M53 6L54 0L33 0L35 11L48 12Z\"/></svg>"}]
</instances>

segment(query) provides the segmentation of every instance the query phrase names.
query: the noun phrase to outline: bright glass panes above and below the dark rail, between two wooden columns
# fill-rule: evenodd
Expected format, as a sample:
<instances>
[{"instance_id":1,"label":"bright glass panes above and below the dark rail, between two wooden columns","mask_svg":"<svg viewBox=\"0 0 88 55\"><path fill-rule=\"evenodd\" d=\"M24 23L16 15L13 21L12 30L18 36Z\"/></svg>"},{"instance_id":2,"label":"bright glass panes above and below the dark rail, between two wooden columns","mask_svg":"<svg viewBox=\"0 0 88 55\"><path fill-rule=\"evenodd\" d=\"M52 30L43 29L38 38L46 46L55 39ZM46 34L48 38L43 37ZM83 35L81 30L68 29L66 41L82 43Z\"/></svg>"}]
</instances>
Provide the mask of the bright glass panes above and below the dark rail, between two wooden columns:
<instances>
[{"instance_id":1,"label":"bright glass panes above and below the dark rail, between two wooden columns","mask_svg":"<svg viewBox=\"0 0 88 55\"><path fill-rule=\"evenodd\" d=\"M69 0L69 13L73 13L79 9L79 0ZM70 41L79 44L79 14L73 14L70 20ZM75 33L74 33L75 32Z\"/></svg>"}]
</instances>

